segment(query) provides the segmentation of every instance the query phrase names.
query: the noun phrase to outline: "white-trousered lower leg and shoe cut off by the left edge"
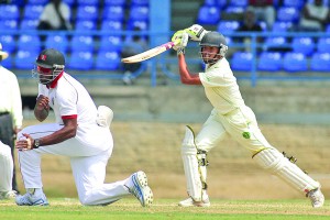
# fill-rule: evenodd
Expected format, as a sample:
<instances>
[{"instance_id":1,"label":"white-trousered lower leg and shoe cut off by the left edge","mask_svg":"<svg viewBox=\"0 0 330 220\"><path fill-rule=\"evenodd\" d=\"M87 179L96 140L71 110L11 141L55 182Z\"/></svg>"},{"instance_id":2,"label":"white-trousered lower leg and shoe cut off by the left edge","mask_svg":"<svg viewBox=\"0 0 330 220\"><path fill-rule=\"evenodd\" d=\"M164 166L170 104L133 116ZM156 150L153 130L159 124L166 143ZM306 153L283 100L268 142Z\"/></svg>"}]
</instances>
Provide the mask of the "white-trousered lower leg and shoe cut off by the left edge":
<instances>
[{"instance_id":1,"label":"white-trousered lower leg and shoe cut off by the left edge","mask_svg":"<svg viewBox=\"0 0 330 220\"><path fill-rule=\"evenodd\" d=\"M11 148L0 141L0 200L15 198L16 191L12 190L12 176Z\"/></svg>"}]
</instances>

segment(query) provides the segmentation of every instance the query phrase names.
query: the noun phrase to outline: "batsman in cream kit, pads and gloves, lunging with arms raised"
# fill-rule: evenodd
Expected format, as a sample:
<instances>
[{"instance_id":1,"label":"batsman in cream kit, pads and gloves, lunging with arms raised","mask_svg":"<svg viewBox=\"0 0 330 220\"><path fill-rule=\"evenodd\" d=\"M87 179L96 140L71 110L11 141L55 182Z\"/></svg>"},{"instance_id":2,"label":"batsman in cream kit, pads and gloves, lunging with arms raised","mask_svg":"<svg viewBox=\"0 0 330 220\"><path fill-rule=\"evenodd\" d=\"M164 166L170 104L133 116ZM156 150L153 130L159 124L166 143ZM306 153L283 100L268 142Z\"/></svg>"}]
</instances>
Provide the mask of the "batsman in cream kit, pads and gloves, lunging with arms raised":
<instances>
[{"instance_id":1,"label":"batsman in cream kit, pads and gloves, lunging with arms raised","mask_svg":"<svg viewBox=\"0 0 330 220\"><path fill-rule=\"evenodd\" d=\"M205 73L191 74L185 61L188 37L199 41L200 57L206 64ZM275 174L309 197L312 207L323 206L321 185L304 173L297 165L272 146L261 133L254 112L244 103L237 79L226 59L228 45L222 34L193 26L176 32L172 41L177 51L180 80L186 85L202 85L213 110L195 136L186 128L182 143L182 157L189 198L179 206L208 207L207 153L218 145L226 134L251 152L252 158L263 168Z\"/></svg>"}]
</instances>

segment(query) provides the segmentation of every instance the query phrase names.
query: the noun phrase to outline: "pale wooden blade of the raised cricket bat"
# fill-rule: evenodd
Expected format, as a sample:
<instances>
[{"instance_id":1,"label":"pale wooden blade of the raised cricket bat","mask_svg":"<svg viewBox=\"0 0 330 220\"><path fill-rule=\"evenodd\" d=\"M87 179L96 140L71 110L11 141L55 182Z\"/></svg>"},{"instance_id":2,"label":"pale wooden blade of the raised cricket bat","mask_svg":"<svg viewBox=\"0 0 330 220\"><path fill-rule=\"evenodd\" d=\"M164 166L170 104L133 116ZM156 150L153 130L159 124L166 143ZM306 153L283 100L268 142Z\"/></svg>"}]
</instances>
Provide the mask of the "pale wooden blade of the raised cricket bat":
<instances>
[{"instance_id":1,"label":"pale wooden blade of the raised cricket bat","mask_svg":"<svg viewBox=\"0 0 330 220\"><path fill-rule=\"evenodd\" d=\"M165 44L162 44L160 46L151 48L146 52L136 54L134 56L122 58L121 62L128 63L128 64L143 62L143 61L150 59L154 56L157 56L158 54L162 54L162 53L166 52L167 50L170 50L173 46L174 46L173 42L167 42Z\"/></svg>"}]
</instances>

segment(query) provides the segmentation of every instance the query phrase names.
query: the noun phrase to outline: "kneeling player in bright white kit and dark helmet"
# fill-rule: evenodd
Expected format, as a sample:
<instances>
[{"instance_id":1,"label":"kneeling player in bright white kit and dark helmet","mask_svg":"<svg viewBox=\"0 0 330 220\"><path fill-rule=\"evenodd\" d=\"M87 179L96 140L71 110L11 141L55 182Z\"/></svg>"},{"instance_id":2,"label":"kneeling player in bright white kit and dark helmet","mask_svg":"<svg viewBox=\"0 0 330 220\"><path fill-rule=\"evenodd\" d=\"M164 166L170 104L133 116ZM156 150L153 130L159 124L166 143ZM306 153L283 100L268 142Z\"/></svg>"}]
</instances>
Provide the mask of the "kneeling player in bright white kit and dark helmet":
<instances>
[{"instance_id":1,"label":"kneeling player in bright white kit and dark helmet","mask_svg":"<svg viewBox=\"0 0 330 220\"><path fill-rule=\"evenodd\" d=\"M19 163L26 194L16 196L19 206L47 206L41 178L41 156L54 154L70 160L79 200L82 205L109 205L130 194L143 207L153 201L144 172L124 180L105 184L106 166L113 140L109 130L112 110L96 108L85 87L64 72L64 55L44 50L32 70L38 78L38 96L34 116L38 121L54 110L56 122L23 129L16 140Z\"/></svg>"}]
</instances>

